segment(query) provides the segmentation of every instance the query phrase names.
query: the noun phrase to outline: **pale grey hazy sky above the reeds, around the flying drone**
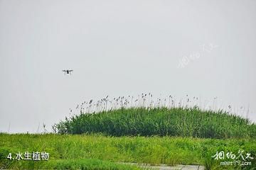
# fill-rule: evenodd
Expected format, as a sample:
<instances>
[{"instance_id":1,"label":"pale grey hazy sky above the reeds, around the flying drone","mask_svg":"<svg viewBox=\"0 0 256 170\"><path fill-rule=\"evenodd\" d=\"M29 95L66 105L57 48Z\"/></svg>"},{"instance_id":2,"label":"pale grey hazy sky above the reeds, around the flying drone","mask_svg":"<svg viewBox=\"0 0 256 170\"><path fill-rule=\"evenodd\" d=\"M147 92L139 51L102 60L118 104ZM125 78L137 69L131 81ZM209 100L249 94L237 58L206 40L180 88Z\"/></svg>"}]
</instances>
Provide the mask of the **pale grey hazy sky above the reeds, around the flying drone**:
<instances>
[{"instance_id":1,"label":"pale grey hazy sky above the reeds, around the flying drone","mask_svg":"<svg viewBox=\"0 0 256 170\"><path fill-rule=\"evenodd\" d=\"M255 0L0 0L0 131L142 92L217 96L256 121L255 30Z\"/></svg>"}]
</instances>

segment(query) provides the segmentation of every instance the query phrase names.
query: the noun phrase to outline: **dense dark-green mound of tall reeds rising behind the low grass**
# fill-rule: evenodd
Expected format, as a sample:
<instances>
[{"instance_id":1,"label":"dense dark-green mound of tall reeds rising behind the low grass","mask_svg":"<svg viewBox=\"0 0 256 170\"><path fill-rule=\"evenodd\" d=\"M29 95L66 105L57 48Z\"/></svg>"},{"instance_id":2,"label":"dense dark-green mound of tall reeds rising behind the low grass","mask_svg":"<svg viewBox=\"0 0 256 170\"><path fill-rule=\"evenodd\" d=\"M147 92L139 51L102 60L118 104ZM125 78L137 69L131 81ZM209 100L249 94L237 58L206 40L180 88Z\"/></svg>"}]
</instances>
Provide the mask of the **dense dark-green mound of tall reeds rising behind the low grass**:
<instances>
[{"instance_id":1,"label":"dense dark-green mound of tall reeds rising behind the low grass","mask_svg":"<svg viewBox=\"0 0 256 170\"><path fill-rule=\"evenodd\" d=\"M256 137L256 125L238 115L200 108L121 108L81 113L53 126L59 133L102 132L124 136L181 136L202 138Z\"/></svg>"}]
</instances>

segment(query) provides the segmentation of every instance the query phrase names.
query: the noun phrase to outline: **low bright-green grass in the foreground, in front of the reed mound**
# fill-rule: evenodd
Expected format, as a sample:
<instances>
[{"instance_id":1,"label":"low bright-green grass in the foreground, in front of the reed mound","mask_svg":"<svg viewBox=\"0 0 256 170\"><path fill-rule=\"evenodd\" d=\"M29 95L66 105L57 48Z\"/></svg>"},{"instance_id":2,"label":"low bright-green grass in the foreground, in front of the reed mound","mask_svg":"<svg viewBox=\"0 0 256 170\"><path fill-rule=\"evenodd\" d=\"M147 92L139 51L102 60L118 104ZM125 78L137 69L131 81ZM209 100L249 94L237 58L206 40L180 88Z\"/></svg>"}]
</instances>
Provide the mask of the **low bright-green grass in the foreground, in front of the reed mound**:
<instances>
[{"instance_id":1,"label":"low bright-green grass in the foreground, in front of the reed mound","mask_svg":"<svg viewBox=\"0 0 256 170\"><path fill-rule=\"evenodd\" d=\"M252 169L219 166L217 151L256 155L256 140L201 139L192 137L107 137L103 135L0 134L0 168L9 169L137 169L117 162L148 164L203 164L210 169ZM9 161L9 153L48 152L48 162Z\"/></svg>"}]
</instances>

